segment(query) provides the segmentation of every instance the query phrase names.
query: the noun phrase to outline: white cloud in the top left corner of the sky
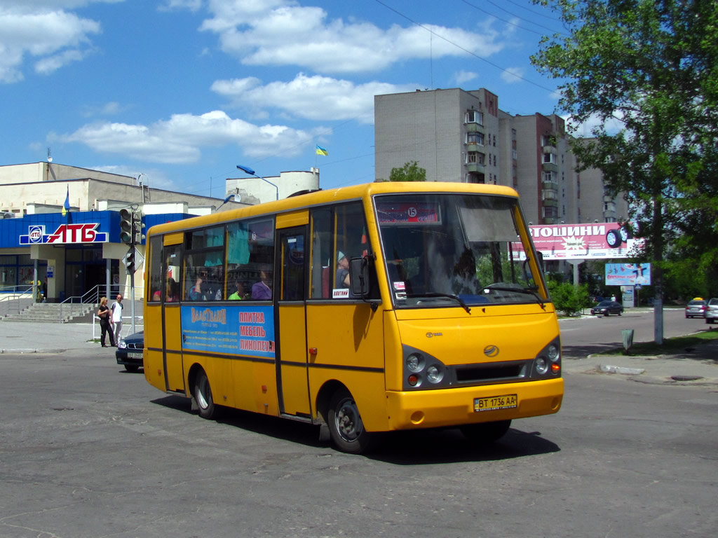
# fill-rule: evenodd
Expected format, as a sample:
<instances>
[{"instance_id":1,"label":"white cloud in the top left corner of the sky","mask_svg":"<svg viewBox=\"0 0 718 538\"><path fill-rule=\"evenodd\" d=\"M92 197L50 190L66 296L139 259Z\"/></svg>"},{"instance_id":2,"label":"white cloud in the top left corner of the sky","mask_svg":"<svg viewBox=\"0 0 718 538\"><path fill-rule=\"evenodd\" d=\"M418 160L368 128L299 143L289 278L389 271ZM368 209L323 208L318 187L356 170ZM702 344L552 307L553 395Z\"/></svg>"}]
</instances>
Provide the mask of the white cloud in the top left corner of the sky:
<instances>
[{"instance_id":1,"label":"white cloud in the top left corner of the sky","mask_svg":"<svg viewBox=\"0 0 718 538\"><path fill-rule=\"evenodd\" d=\"M70 4L72 2L32 2L32 4ZM74 4L78 4L75 2ZM38 57L35 70L52 72L85 54L81 46L90 43L90 34L98 34L98 22L82 19L66 11L28 12L14 6L0 7L0 82L23 79L22 63L26 55Z\"/></svg>"}]
</instances>

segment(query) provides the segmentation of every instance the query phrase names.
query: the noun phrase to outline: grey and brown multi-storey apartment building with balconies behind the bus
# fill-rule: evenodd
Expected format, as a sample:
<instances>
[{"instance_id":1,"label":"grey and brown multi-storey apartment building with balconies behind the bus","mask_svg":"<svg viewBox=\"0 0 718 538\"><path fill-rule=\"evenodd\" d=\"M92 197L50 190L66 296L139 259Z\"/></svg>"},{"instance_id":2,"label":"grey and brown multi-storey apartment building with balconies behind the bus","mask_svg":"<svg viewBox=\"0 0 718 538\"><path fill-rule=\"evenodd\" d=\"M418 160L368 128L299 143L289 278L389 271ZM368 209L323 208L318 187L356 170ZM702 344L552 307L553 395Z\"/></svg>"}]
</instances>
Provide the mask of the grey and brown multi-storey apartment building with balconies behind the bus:
<instances>
[{"instance_id":1,"label":"grey and brown multi-storey apartment building with balconies behind the bus","mask_svg":"<svg viewBox=\"0 0 718 538\"><path fill-rule=\"evenodd\" d=\"M376 178L416 161L429 181L502 184L521 194L533 224L615 222L628 214L607 197L600 171L579 174L564 119L510 115L488 90L376 95Z\"/></svg>"}]
</instances>

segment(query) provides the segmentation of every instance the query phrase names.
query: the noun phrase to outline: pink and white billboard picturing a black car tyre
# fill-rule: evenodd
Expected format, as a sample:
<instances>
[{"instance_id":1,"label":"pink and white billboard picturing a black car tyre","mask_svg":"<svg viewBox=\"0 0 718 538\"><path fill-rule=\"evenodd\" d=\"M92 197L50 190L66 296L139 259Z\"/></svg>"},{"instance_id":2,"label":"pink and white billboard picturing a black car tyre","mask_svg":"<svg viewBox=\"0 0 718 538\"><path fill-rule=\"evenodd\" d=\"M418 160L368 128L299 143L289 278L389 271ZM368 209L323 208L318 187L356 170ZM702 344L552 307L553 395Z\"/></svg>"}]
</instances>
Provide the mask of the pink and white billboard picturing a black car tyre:
<instances>
[{"instance_id":1,"label":"pink and white billboard picturing a black car tyre","mask_svg":"<svg viewBox=\"0 0 718 538\"><path fill-rule=\"evenodd\" d=\"M628 258L641 240L634 240L618 222L529 226L533 245L544 260L601 260ZM521 245L514 244L515 252Z\"/></svg>"}]
</instances>

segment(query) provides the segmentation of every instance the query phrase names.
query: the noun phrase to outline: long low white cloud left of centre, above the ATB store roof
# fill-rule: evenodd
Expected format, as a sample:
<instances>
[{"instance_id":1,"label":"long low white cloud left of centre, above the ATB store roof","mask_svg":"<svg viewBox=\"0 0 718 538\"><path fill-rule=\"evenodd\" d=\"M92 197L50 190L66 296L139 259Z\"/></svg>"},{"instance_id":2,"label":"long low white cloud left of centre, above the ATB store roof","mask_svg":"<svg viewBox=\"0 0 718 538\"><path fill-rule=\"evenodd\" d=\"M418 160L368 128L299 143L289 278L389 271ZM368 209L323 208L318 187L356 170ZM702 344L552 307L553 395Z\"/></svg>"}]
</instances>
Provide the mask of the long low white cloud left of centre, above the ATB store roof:
<instances>
[{"instance_id":1,"label":"long low white cloud left of centre, above the ATB store roof","mask_svg":"<svg viewBox=\"0 0 718 538\"><path fill-rule=\"evenodd\" d=\"M92 123L57 138L142 161L187 164L200 159L203 147L228 144L236 144L246 156L253 158L295 156L312 143L315 136L328 133L326 128L310 132L279 125L257 126L213 110L202 115L174 114L169 120L151 126Z\"/></svg>"}]
</instances>

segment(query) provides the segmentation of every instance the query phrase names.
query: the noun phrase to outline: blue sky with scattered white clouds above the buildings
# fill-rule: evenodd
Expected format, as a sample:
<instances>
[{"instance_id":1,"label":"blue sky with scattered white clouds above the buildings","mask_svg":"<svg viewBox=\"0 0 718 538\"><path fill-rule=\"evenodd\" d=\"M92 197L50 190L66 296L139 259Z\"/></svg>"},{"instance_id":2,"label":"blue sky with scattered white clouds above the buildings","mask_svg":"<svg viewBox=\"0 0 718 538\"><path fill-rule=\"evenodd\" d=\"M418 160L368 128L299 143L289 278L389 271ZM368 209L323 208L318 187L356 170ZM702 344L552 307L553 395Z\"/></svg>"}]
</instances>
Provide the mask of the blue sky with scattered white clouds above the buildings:
<instances>
[{"instance_id":1,"label":"blue sky with scattered white clouds above the buildings","mask_svg":"<svg viewBox=\"0 0 718 538\"><path fill-rule=\"evenodd\" d=\"M2 0L0 164L50 148L218 198L237 164L365 183L373 95L487 88L508 113L553 113L529 56L560 31L529 0Z\"/></svg>"}]
</instances>

